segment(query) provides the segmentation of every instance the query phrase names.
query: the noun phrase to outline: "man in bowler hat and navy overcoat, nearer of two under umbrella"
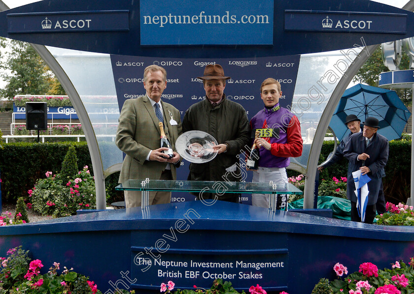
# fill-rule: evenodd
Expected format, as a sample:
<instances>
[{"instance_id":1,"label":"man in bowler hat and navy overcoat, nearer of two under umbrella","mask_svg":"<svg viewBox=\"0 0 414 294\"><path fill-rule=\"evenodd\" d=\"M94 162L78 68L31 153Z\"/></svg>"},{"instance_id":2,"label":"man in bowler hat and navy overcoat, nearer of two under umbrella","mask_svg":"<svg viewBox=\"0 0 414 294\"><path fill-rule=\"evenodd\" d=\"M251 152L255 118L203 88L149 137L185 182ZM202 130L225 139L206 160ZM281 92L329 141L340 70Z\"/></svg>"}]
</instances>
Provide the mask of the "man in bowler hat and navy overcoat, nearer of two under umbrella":
<instances>
[{"instance_id":1,"label":"man in bowler hat and navy overcoat, nearer of two under umbrella","mask_svg":"<svg viewBox=\"0 0 414 294\"><path fill-rule=\"evenodd\" d=\"M352 172L361 170L368 175L368 204L364 223L372 224L376 215L376 203L381 186L381 170L388 160L388 140L377 134L377 118L366 118L362 133L352 134L344 148L344 156L349 160L346 196L351 201L351 220L361 222L356 207L355 183Z\"/></svg>"}]
</instances>

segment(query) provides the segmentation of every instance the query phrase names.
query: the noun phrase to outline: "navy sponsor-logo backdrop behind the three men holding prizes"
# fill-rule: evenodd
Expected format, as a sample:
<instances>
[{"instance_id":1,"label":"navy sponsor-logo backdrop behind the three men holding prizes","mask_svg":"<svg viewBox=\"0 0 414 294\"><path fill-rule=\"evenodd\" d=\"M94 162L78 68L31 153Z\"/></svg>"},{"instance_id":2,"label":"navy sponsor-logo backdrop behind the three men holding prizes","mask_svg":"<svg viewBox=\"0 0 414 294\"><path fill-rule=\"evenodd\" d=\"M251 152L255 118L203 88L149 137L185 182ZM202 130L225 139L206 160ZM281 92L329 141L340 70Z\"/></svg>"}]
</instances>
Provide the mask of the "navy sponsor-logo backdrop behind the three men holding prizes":
<instances>
[{"instance_id":1,"label":"navy sponsor-logo backdrop behind the three men holding prizes","mask_svg":"<svg viewBox=\"0 0 414 294\"><path fill-rule=\"evenodd\" d=\"M119 110L126 99L137 98L145 94L143 72L146 66L157 64L167 70L167 88L162 100L172 104L181 112L181 120L185 111L194 103L205 99L203 83L197 77L203 76L207 64L218 63L224 68L226 82L224 93L231 101L240 103L246 110L249 120L263 108L260 98L260 85L269 77L280 82L282 97L280 105L292 104L299 56L266 57L251 59L171 59L134 56L111 55L113 76ZM219 142L220 143L220 142ZM177 179L185 180L188 176L188 161L183 160L177 170ZM248 173L246 181L251 181L252 173ZM193 200L187 193L173 193L173 202ZM250 195L242 195L242 203L251 203Z\"/></svg>"}]
</instances>

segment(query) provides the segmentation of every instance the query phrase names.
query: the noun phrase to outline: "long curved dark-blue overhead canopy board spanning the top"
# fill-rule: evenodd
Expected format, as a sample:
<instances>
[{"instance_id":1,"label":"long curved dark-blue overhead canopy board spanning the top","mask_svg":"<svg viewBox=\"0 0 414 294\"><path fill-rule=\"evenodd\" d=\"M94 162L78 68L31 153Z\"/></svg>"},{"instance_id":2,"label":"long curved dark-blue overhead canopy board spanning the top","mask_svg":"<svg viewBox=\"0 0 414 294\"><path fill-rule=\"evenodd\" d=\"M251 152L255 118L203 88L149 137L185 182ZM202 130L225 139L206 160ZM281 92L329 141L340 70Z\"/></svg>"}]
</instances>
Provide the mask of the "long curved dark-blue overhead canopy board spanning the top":
<instances>
[{"instance_id":1,"label":"long curved dark-blue overhead canopy board spanning the top","mask_svg":"<svg viewBox=\"0 0 414 294\"><path fill-rule=\"evenodd\" d=\"M1 12L0 36L126 56L249 58L404 39L411 23L413 12L370 0L43 0Z\"/></svg>"}]
</instances>

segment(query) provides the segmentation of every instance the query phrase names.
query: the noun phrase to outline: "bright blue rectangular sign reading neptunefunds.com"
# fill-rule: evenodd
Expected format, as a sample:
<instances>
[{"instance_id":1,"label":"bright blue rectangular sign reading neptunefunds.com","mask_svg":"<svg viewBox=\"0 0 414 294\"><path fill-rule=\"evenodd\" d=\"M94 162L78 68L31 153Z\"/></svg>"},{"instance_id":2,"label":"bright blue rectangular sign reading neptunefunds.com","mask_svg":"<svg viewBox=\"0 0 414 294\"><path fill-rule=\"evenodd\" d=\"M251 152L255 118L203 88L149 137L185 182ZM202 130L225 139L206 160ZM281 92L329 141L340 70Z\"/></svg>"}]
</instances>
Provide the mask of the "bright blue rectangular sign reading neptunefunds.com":
<instances>
[{"instance_id":1,"label":"bright blue rectangular sign reading neptunefunds.com","mask_svg":"<svg viewBox=\"0 0 414 294\"><path fill-rule=\"evenodd\" d=\"M273 0L141 0L140 29L141 45L273 45Z\"/></svg>"}]
</instances>

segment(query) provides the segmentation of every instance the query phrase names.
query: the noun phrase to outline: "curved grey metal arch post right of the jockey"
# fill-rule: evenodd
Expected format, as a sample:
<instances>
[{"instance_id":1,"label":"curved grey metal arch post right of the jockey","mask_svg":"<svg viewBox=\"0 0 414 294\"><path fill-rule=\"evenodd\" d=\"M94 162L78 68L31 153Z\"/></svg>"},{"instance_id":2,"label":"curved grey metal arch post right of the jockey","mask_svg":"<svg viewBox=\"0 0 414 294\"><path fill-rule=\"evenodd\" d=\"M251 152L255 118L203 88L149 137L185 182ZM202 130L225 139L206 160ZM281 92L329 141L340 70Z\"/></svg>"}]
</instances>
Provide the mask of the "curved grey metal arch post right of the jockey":
<instances>
[{"instance_id":1,"label":"curved grey metal arch post right of the jockey","mask_svg":"<svg viewBox=\"0 0 414 294\"><path fill-rule=\"evenodd\" d=\"M408 1L407 4L404 5L403 9L414 11L414 0ZM313 142L311 145L311 152L309 153L309 158L308 158L308 165L307 165L308 173L305 179L304 203L303 203L303 207L305 209L313 208L313 190L314 190L314 185L315 185L316 167L317 167L317 163L319 159L320 150L322 148L323 137L325 135L325 131L329 125L329 122L331 121L331 118L334 114L334 111L338 105L339 99L341 99L346 87L351 82L351 79L355 76L358 70L371 56L371 54L375 50L377 50L377 48L379 47L380 47L380 44L367 46L365 51L367 51L369 55L368 54L367 56L364 55L358 60L354 60L354 62L349 65L347 71L342 76L338 85L332 92L331 98L329 99L322 113L321 119L319 120L319 123L318 123L318 127L316 128L315 136L313 137Z\"/></svg>"}]
</instances>

